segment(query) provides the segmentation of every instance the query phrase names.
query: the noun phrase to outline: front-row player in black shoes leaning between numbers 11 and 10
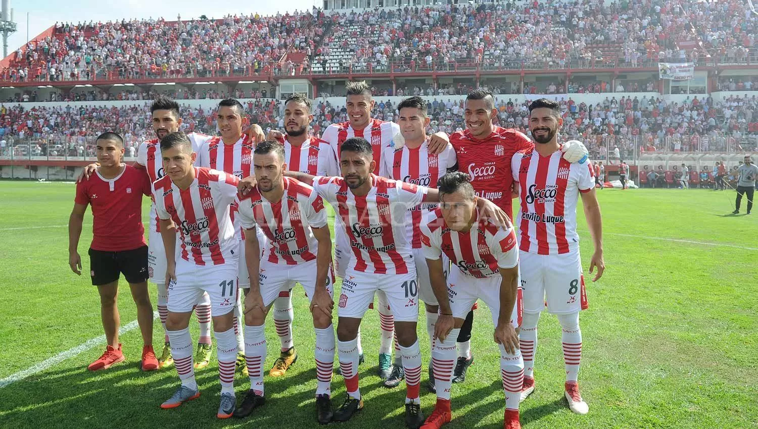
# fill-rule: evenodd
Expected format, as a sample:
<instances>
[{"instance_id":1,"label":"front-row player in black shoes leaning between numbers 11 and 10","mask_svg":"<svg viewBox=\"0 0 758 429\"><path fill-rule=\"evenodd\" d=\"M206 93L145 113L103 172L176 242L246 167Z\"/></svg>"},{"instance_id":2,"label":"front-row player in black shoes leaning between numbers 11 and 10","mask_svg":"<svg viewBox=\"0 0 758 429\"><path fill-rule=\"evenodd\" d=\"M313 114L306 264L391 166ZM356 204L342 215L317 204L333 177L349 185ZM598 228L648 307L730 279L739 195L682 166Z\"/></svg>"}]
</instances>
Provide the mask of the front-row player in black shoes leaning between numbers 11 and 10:
<instances>
[{"instance_id":1,"label":"front-row player in black shoes leaning between numbers 11 and 10","mask_svg":"<svg viewBox=\"0 0 758 429\"><path fill-rule=\"evenodd\" d=\"M257 186L241 197L237 213L247 234L246 263L251 273L245 298L245 357L250 390L235 417L246 417L265 402L263 369L266 360L265 319L281 291L302 284L311 300L315 328L316 408L321 424L331 421L330 384L334 365L334 328L331 312L333 281L330 278L331 238L327 210L316 191L296 179L284 177L284 148L263 141L253 154ZM255 227L262 228L268 245L258 258ZM315 275L314 275L315 273Z\"/></svg>"}]
</instances>

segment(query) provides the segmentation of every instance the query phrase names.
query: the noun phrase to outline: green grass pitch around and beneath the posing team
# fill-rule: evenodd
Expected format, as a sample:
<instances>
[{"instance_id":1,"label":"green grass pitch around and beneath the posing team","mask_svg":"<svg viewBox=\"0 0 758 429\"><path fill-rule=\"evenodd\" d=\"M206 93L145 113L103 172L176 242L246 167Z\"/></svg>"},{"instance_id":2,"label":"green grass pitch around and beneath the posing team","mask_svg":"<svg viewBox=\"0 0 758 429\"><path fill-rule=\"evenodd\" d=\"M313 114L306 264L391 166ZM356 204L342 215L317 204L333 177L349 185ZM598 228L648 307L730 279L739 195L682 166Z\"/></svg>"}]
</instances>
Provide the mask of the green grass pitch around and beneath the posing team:
<instances>
[{"instance_id":1,"label":"green grass pitch around and beneath the posing team","mask_svg":"<svg viewBox=\"0 0 758 429\"><path fill-rule=\"evenodd\" d=\"M67 230L61 225L73 199L70 184L0 182L0 378L102 334L96 290L67 266ZM724 216L733 201L733 193L705 190L600 192L607 268L601 281L588 284L590 309L581 314L580 383L590 413L568 411L559 326L546 313L540 321L537 390L522 403L524 427L758 427L758 251L739 248L758 247L758 214ZM592 246L581 213L579 219L587 266ZM90 227L87 215L83 272L89 266ZM151 293L155 305L154 288ZM125 364L87 372L86 365L102 353L97 347L0 388L0 427L317 427L312 322L302 293L295 294L294 305L301 356L285 378L266 377L268 402L257 417L216 420L215 356L197 374L199 399L171 411L158 409L173 393L177 375L174 369L139 371L141 341L134 330L122 337ZM122 294L122 325L135 318L129 294ZM196 337L196 323L191 326ZM366 407L344 427L402 427L404 389L387 390L375 375L377 326L377 313L367 312L367 362L360 368ZM419 326L426 361L423 314ZM504 400L491 332L482 307L472 341L475 365L465 384L453 386L451 428L502 427ZM156 319L157 344L161 337ZM270 367L279 347L270 321L267 337ZM425 389L426 371L421 382L428 414L434 395ZM239 377L236 386L241 397L248 384ZM333 390L337 405L344 395L340 377Z\"/></svg>"}]
</instances>

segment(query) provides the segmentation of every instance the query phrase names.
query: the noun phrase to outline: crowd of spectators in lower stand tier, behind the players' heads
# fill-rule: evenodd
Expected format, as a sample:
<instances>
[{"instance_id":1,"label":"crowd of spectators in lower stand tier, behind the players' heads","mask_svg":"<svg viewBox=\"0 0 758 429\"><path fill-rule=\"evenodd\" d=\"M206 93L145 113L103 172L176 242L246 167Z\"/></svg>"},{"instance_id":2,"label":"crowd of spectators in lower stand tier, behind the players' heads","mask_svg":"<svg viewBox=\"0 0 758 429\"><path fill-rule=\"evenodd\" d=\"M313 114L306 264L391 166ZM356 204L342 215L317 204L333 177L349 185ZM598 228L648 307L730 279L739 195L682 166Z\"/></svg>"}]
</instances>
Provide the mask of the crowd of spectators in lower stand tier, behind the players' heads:
<instances>
[{"instance_id":1,"label":"crowd of spectators in lower stand tier, behind the players' heads","mask_svg":"<svg viewBox=\"0 0 758 429\"><path fill-rule=\"evenodd\" d=\"M396 105L376 98L374 117L396 120ZM496 123L528 133L528 103L518 103L499 96ZM594 159L629 159L634 151L739 151L755 148L758 139L758 96L732 96L724 101L713 98L688 98L682 103L662 98L606 97L597 104L576 103L571 97L561 98L564 125L562 139L580 138L587 144ZM244 103L252 123L264 129L283 129L283 105L273 99L257 99ZM314 106L312 129L315 135L330 123L348 120L343 105L318 101ZM465 128L463 101L435 97L429 104L430 131L455 132ZM183 107L186 132L215 134L215 115L200 107ZM39 153L47 147L68 147L69 156L77 156L83 146L87 154L93 138L100 132L113 130L124 135L127 154L141 141L152 138L149 102L128 107L88 105L86 107L34 107L21 105L0 107L0 137L32 149L15 155ZM32 143L33 142L33 143ZM67 146L66 146L67 145ZM6 145L5 156L12 145ZM636 148L636 149L635 149ZM61 151L61 148L58 148ZM44 156L44 155L42 155Z\"/></svg>"}]
</instances>

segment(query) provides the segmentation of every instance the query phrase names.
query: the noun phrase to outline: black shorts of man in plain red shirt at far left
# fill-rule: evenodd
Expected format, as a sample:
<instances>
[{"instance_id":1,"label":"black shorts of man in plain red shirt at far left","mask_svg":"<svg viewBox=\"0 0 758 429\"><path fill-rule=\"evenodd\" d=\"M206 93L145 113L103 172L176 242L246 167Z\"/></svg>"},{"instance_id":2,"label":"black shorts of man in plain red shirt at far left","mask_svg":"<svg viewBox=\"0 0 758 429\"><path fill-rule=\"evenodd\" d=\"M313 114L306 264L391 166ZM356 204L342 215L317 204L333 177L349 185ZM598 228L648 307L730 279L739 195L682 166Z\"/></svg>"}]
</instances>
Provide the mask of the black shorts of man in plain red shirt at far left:
<instances>
[{"instance_id":1,"label":"black shorts of man in plain red shirt at far left","mask_svg":"<svg viewBox=\"0 0 758 429\"><path fill-rule=\"evenodd\" d=\"M120 273L129 283L147 281L147 246L121 252L89 249L89 275L92 284L100 286L118 280Z\"/></svg>"}]
</instances>

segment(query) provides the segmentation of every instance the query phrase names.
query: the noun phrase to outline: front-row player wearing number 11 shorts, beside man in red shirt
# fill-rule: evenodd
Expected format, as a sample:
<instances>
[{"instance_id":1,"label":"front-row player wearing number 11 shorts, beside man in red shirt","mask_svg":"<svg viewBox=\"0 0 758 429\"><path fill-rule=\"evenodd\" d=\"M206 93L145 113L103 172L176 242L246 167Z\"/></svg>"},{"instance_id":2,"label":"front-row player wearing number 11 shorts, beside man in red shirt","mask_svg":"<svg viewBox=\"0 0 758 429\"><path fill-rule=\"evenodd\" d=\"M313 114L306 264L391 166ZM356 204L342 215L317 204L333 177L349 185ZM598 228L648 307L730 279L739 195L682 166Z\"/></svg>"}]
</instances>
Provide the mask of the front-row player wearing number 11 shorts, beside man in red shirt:
<instances>
[{"instance_id":1,"label":"front-row player wearing number 11 shorts, beside man in red shirt","mask_svg":"<svg viewBox=\"0 0 758 429\"><path fill-rule=\"evenodd\" d=\"M229 210L239 179L215 169L194 167L196 156L183 132L172 132L161 138L166 176L153 183L152 193L168 260L166 329L181 380L181 386L161 408L175 408L200 396L187 326L193 306L205 291L211 297L221 379L217 417L229 418L236 402L233 384L237 347L232 319L240 247ZM181 245L179 256L174 259L177 229Z\"/></svg>"}]
</instances>

